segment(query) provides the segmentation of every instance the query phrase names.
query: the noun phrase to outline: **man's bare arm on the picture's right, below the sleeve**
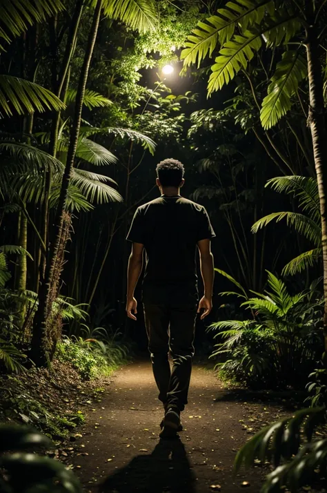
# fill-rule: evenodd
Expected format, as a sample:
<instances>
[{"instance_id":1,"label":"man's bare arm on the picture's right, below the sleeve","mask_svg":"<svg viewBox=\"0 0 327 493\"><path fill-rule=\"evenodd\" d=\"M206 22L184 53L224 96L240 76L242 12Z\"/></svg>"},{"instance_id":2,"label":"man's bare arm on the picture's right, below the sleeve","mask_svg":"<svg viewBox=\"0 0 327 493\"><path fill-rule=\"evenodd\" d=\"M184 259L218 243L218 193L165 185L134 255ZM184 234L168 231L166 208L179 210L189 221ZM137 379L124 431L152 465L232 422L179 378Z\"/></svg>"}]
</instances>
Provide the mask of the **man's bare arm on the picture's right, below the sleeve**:
<instances>
[{"instance_id":1,"label":"man's bare arm on the picture's right, below the sleeve","mask_svg":"<svg viewBox=\"0 0 327 493\"><path fill-rule=\"evenodd\" d=\"M197 242L197 247L200 253L200 269L201 276L204 281L204 296L199 302L199 311L203 308L204 312L201 314L201 320L209 315L212 309L212 289L213 280L215 276L215 269L213 264L213 255L210 249L210 240L200 240Z\"/></svg>"}]
</instances>

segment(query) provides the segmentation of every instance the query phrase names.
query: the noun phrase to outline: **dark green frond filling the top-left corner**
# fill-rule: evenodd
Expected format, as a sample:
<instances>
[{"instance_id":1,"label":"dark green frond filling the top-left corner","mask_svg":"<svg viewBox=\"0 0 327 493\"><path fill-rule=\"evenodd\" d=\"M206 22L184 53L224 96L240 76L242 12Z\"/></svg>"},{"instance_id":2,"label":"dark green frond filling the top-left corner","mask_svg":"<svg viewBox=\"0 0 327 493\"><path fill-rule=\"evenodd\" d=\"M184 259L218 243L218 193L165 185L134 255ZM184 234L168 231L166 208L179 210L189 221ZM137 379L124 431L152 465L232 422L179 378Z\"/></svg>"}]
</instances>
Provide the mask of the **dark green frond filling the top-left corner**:
<instances>
[{"instance_id":1,"label":"dark green frond filling the top-left corner","mask_svg":"<svg viewBox=\"0 0 327 493\"><path fill-rule=\"evenodd\" d=\"M0 38L10 43L12 37L20 36L28 26L40 23L63 10L60 0L1 0ZM0 50L3 50L0 45Z\"/></svg>"}]
</instances>

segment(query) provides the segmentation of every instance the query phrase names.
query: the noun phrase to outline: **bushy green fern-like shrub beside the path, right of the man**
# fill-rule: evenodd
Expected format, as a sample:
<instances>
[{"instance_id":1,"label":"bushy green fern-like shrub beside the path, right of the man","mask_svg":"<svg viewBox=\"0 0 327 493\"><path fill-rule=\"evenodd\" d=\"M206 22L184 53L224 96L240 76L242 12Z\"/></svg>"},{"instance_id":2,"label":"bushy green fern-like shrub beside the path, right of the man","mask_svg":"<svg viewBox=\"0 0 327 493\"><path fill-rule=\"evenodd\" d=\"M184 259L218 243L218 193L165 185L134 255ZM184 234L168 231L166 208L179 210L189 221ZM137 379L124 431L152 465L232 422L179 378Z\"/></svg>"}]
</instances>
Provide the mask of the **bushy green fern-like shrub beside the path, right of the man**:
<instances>
[{"instance_id":1,"label":"bushy green fern-like shrub beside the path, right of the man","mask_svg":"<svg viewBox=\"0 0 327 493\"><path fill-rule=\"evenodd\" d=\"M249 298L244 289L224 294L243 298L241 307L249 310L252 318L210 325L215 338L222 341L215 345L211 357L228 355L217 365L222 374L251 387L302 386L323 351L322 302L314 299L315 286L292 296L284 282L268 272L264 294Z\"/></svg>"}]
</instances>

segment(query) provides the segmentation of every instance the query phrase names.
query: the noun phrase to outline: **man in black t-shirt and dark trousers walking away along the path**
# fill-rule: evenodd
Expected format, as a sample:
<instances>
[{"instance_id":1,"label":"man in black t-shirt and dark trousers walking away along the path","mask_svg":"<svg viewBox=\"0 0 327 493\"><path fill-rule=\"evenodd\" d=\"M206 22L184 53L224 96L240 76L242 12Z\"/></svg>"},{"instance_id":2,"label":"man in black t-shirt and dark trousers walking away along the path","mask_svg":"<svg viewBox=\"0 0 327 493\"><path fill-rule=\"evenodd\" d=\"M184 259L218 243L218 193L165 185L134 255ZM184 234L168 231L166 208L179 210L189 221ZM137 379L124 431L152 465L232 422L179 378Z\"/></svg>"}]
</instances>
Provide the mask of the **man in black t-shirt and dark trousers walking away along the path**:
<instances>
[{"instance_id":1,"label":"man in black t-shirt and dark trousers walking away along the path","mask_svg":"<svg viewBox=\"0 0 327 493\"><path fill-rule=\"evenodd\" d=\"M157 165L161 197L140 206L132 220L127 240L132 242L128 262L126 312L136 320L135 286L143 267L143 307L152 369L164 404L161 438L181 431L180 413L188 400L194 355L195 318L212 309L214 277L210 239L215 233L206 209L181 197L184 166L177 160ZM198 305L195 254L199 249L204 297ZM172 370L168 360L172 355Z\"/></svg>"}]
</instances>

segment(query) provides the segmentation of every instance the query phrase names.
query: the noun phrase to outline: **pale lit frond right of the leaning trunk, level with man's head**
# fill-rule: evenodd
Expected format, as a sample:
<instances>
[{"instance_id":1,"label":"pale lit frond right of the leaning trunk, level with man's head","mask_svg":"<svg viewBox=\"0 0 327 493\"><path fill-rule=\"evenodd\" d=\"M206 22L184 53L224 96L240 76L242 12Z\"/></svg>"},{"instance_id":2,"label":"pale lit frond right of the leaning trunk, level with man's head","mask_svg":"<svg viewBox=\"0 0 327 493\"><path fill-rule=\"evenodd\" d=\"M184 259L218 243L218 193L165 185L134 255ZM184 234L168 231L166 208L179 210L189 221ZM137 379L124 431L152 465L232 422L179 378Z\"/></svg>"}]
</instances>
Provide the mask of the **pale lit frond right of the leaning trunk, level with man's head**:
<instances>
[{"instance_id":1,"label":"pale lit frond right of the leaning trunk, level with man's head","mask_svg":"<svg viewBox=\"0 0 327 493\"><path fill-rule=\"evenodd\" d=\"M123 197L106 182L115 183L111 178L91 173L90 171L73 168L72 184L77 186L81 193L90 202L103 204L106 202L122 202Z\"/></svg>"}]
</instances>

